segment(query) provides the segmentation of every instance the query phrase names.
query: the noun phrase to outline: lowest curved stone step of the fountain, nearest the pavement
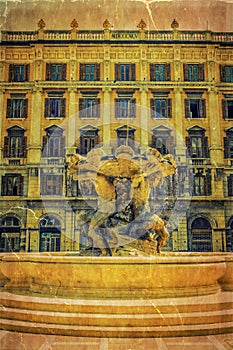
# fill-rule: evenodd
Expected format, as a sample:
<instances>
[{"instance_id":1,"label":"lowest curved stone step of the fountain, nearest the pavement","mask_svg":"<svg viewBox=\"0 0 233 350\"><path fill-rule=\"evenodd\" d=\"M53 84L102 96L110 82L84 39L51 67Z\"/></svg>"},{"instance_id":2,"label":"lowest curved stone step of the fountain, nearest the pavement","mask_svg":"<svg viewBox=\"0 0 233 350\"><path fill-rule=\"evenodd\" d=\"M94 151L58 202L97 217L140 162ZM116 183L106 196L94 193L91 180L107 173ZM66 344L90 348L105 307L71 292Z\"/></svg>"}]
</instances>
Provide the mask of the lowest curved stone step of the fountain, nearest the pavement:
<instances>
[{"instance_id":1,"label":"lowest curved stone step of the fountain, nearest the pavement","mask_svg":"<svg viewBox=\"0 0 233 350\"><path fill-rule=\"evenodd\" d=\"M63 324L48 324L37 322L16 321L1 319L0 327L10 331L69 335L79 337L177 337L231 333L233 322L212 323L197 325L177 325L177 326L151 326L151 327L102 327L102 326L76 326Z\"/></svg>"}]
</instances>

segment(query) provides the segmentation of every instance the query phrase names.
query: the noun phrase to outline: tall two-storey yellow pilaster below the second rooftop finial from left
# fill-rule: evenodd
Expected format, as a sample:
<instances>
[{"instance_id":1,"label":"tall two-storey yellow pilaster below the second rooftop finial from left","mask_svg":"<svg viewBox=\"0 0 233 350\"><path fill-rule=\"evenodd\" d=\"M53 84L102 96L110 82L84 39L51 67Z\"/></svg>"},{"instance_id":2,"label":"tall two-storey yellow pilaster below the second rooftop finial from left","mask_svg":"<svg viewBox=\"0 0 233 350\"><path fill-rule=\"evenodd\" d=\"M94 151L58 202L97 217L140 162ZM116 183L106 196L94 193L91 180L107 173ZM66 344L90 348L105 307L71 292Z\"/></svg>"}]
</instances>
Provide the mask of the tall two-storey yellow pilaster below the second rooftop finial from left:
<instances>
[{"instance_id":1,"label":"tall two-storey yellow pilaster below the second rooftop finial from left","mask_svg":"<svg viewBox=\"0 0 233 350\"><path fill-rule=\"evenodd\" d=\"M74 154L76 153L76 118L77 111L77 96L76 96L76 88L72 87L69 89L69 114L67 118L67 153Z\"/></svg>"}]
</instances>

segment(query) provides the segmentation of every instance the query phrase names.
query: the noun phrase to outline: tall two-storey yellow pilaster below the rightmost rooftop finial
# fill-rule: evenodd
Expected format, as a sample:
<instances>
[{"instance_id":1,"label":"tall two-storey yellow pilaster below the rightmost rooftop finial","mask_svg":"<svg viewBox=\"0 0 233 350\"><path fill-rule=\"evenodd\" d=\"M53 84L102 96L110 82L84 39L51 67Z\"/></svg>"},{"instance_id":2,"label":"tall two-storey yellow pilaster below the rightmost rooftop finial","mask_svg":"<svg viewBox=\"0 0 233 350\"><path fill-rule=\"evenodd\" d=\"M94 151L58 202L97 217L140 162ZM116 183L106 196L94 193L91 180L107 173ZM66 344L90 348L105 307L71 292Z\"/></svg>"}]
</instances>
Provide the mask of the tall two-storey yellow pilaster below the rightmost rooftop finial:
<instances>
[{"instance_id":1,"label":"tall two-storey yellow pilaster below the rightmost rooftop finial","mask_svg":"<svg viewBox=\"0 0 233 350\"><path fill-rule=\"evenodd\" d=\"M183 135L183 104L182 104L182 89L174 89L174 99L175 99L175 139L176 139L176 158L179 163L186 163L186 145L185 137Z\"/></svg>"}]
</instances>

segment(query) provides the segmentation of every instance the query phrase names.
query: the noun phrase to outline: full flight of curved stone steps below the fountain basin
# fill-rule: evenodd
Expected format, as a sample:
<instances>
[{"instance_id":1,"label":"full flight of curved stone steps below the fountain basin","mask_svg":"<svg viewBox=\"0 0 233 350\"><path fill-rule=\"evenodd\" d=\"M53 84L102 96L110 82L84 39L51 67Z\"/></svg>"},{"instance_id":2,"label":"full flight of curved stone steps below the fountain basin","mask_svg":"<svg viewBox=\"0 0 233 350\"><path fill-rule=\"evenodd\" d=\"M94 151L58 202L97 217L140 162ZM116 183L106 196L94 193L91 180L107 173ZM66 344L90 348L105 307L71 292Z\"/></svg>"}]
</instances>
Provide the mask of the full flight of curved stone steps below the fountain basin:
<instances>
[{"instance_id":1,"label":"full flight of curved stone steps below the fountain basin","mask_svg":"<svg viewBox=\"0 0 233 350\"><path fill-rule=\"evenodd\" d=\"M0 328L76 336L183 336L233 331L233 295L77 300L0 293Z\"/></svg>"}]
</instances>

